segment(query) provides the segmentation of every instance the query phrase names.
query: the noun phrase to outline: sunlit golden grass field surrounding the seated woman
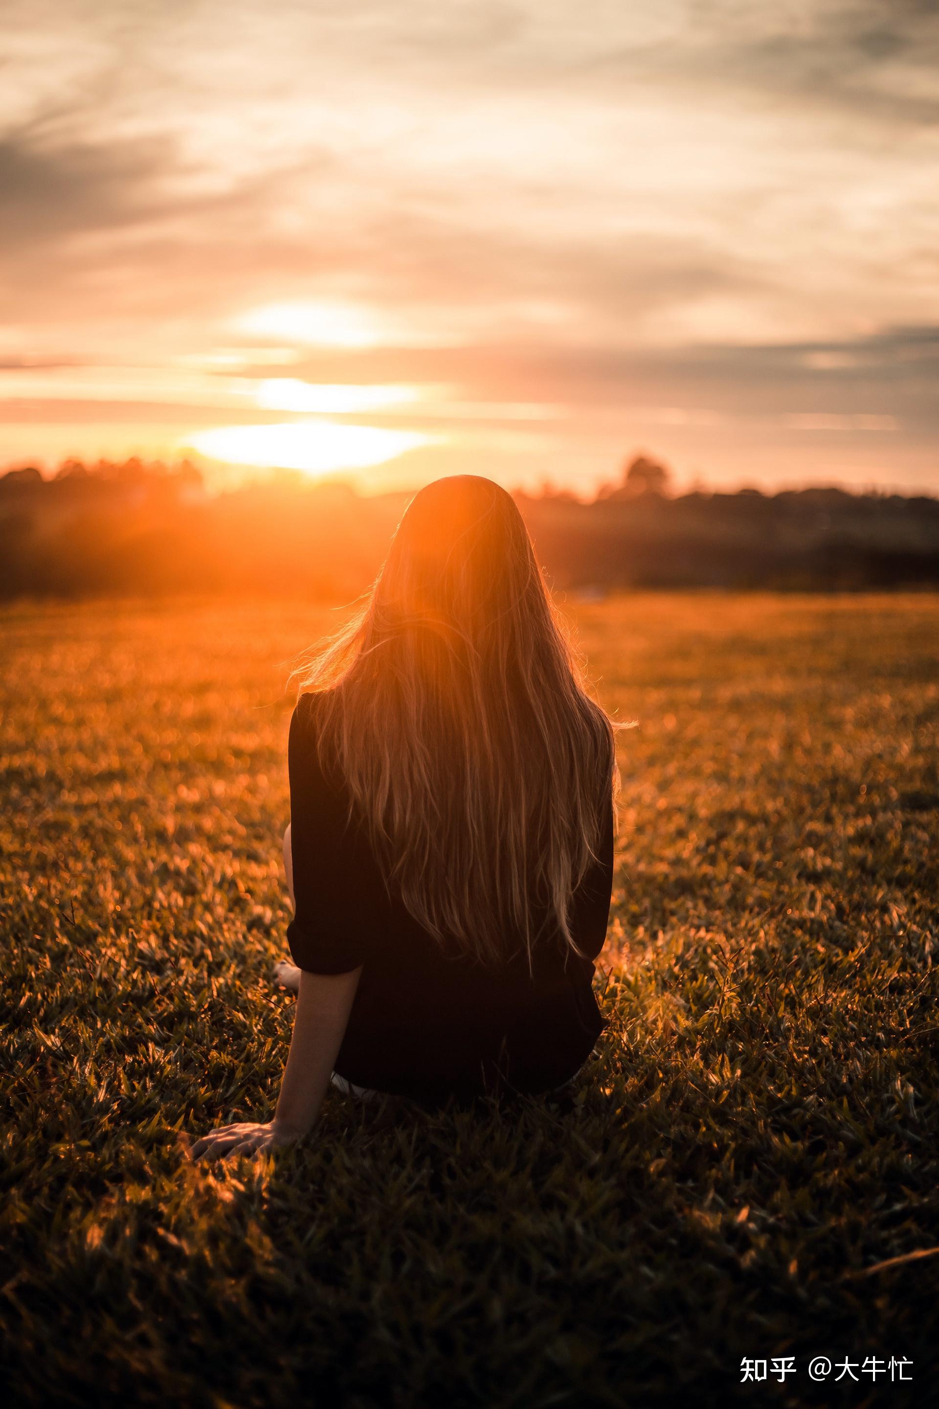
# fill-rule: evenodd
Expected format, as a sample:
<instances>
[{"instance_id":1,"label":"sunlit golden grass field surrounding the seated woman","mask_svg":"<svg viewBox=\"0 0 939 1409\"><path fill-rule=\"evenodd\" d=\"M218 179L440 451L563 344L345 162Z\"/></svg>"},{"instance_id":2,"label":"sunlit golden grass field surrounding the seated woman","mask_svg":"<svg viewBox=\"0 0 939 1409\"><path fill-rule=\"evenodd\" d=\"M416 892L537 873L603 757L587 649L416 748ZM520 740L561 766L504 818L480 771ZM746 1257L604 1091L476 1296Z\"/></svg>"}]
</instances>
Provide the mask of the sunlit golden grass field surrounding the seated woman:
<instances>
[{"instance_id":1,"label":"sunlit golden grass field surrounding the seated woman","mask_svg":"<svg viewBox=\"0 0 939 1409\"><path fill-rule=\"evenodd\" d=\"M939 596L570 610L639 721L573 1109L332 1093L201 1167L276 1096L284 662L335 616L3 609L7 1403L936 1402Z\"/></svg>"}]
</instances>

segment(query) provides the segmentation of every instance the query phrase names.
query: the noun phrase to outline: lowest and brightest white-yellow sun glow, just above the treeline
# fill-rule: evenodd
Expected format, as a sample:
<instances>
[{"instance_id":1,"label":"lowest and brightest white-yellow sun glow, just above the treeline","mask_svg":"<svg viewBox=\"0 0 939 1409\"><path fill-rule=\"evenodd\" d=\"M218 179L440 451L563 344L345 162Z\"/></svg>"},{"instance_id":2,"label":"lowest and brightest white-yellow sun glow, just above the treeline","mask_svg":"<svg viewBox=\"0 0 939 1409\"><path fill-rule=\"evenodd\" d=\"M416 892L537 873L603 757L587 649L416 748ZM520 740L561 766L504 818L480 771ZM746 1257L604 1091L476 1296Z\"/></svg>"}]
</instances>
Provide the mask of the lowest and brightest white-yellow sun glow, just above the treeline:
<instances>
[{"instance_id":1,"label":"lowest and brightest white-yellow sun glow, just above the treeline","mask_svg":"<svg viewBox=\"0 0 939 1409\"><path fill-rule=\"evenodd\" d=\"M303 469L318 475L334 469L383 465L408 449L439 437L418 431L389 431L374 426L342 426L335 421L287 421L276 426L217 426L197 431L184 448L231 465Z\"/></svg>"}]
</instances>

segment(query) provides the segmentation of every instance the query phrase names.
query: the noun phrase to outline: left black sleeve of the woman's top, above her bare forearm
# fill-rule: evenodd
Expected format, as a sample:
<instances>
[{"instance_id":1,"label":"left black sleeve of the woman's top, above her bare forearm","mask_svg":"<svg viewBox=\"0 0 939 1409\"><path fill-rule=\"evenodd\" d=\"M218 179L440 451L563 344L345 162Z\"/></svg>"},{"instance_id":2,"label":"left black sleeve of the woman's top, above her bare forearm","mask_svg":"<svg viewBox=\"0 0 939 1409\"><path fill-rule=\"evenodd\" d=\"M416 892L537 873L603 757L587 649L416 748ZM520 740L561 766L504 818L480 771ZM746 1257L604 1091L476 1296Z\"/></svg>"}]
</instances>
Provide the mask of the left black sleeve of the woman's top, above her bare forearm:
<instances>
[{"instance_id":1,"label":"left black sleeve of the woman's top, above her bare forearm","mask_svg":"<svg viewBox=\"0 0 939 1409\"><path fill-rule=\"evenodd\" d=\"M387 892L363 828L349 820L348 789L321 764L315 699L300 697L287 744L296 899L287 943L298 968L348 974L380 933Z\"/></svg>"}]
</instances>

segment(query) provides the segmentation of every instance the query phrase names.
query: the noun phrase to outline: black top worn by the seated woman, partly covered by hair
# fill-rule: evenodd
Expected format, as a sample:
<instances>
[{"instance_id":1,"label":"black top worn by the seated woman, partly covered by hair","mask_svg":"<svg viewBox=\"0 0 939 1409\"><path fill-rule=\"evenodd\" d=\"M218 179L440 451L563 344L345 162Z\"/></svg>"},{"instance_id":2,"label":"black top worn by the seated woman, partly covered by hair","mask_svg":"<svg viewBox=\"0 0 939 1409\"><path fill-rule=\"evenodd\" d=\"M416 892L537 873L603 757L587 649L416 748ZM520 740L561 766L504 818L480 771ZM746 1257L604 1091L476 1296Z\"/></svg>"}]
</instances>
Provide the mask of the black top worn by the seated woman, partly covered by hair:
<instances>
[{"instance_id":1,"label":"black top worn by the seated woman, partly covered by hair","mask_svg":"<svg viewBox=\"0 0 939 1409\"><path fill-rule=\"evenodd\" d=\"M315 695L290 721L290 820L296 913L294 964L313 974L362 965L335 1069L346 1081L425 1099L508 1086L543 1092L584 1062L604 1023L593 960L607 934L612 889L612 799L598 779L598 859L574 892L570 929L586 958L545 931L534 975L518 943L498 965L446 954L390 893L365 824L349 812L338 769L321 766ZM601 790L603 789L603 790Z\"/></svg>"}]
</instances>

